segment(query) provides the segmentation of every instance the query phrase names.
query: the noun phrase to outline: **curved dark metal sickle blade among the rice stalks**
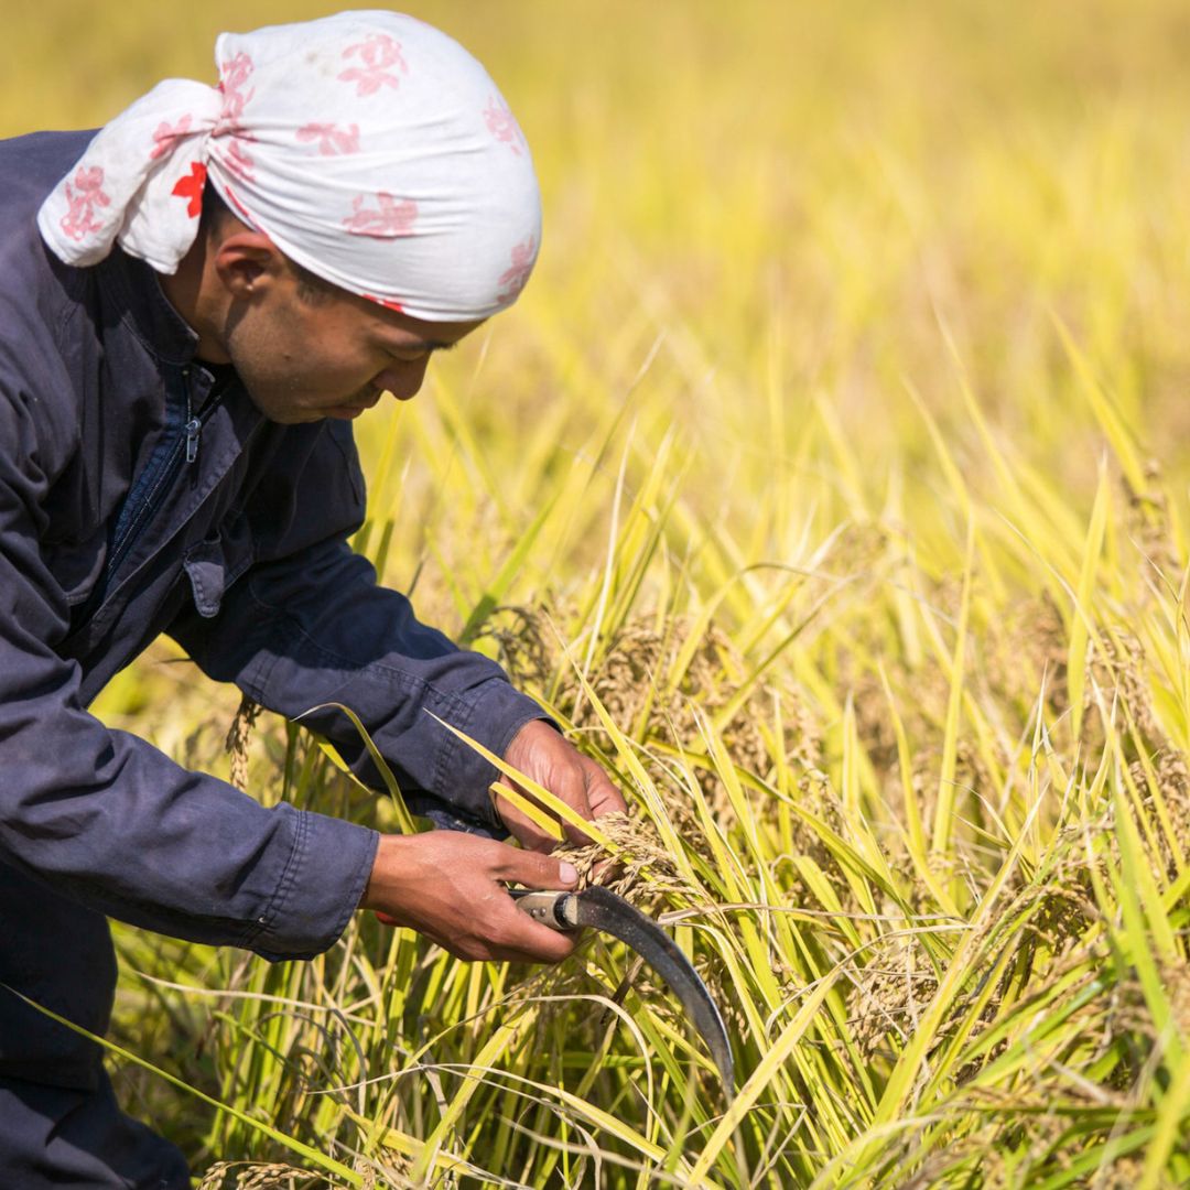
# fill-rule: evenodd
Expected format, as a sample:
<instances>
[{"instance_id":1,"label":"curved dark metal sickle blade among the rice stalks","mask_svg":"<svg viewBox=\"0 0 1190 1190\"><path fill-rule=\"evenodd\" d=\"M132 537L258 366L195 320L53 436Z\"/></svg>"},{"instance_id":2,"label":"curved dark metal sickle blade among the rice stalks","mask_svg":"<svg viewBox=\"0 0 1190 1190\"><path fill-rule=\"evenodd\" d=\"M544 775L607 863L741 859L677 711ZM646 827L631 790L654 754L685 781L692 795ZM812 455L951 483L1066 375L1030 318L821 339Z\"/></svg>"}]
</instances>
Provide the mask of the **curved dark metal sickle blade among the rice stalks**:
<instances>
[{"instance_id":1,"label":"curved dark metal sickle blade among the rice stalks","mask_svg":"<svg viewBox=\"0 0 1190 1190\"><path fill-rule=\"evenodd\" d=\"M724 1090L731 1100L735 1094L735 1071L727 1028L715 1002L707 991L699 972L682 953L681 947L656 921L634 909L624 897L595 885L568 897L564 910L575 925L590 926L619 938L647 963L682 1002L687 1015L706 1041L710 1057L719 1067Z\"/></svg>"}]
</instances>

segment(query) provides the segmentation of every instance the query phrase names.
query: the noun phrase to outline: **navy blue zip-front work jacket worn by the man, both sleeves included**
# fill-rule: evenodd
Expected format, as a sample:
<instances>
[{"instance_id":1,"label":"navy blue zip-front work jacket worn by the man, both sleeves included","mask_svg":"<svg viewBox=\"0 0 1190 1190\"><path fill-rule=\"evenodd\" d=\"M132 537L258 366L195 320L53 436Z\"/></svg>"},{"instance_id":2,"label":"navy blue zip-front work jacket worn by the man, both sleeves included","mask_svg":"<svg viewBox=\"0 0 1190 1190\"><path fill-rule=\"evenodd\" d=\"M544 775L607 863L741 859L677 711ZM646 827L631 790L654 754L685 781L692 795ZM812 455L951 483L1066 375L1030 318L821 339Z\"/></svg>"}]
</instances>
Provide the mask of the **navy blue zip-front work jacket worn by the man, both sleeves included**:
<instances>
[{"instance_id":1,"label":"navy blue zip-front work jacket worn by the man, both sleeves included","mask_svg":"<svg viewBox=\"0 0 1190 1190\"><path fill-rule=\"evenodd\" d=\"M347 422L270 422L233 376L213 393L148 265L44 246L37 208L89 136L0 142L0 863L161 933L312 956L375 832L264 809L105 727L104 684L168 633L283 715L350 706L412 802L488 826L494 770L426 710L497 753L541 710L347 547ZM303 721L377 784L343 715Z\"/></svg>"}]
</instances>

